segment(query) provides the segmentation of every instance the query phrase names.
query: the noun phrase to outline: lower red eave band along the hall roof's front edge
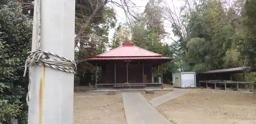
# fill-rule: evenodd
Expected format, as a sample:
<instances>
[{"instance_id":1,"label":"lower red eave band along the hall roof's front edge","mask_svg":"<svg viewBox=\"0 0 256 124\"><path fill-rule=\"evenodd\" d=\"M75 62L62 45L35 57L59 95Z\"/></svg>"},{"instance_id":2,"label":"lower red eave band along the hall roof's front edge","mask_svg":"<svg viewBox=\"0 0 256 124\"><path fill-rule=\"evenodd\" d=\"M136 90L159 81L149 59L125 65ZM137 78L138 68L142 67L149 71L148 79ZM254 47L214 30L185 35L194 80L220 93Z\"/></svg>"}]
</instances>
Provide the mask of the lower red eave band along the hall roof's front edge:
<instances>
[{"instance_id":1,"label":"lower red eave band along the hall roof's front edge","mask_svg":"<svg viewBox=\"0 0 256 124\"><path fill-rule=\"evenodd\" d=\"M169 57L97 57L87 60L132 60L132 59L173 59Z\"/></svg>"}]
</instances>

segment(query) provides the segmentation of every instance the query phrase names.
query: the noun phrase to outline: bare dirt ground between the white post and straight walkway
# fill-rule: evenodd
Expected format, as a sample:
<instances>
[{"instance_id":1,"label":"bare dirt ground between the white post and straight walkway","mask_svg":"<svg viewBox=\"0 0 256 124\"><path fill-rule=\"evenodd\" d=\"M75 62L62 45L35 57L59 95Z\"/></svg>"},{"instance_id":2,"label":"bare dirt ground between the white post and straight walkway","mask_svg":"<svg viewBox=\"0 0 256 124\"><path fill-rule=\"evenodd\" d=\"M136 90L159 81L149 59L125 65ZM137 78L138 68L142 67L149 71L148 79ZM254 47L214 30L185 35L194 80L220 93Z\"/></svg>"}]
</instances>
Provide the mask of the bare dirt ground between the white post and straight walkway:
<instances>
[{"instance_id":1,"label":"bare dirt ground between the white post and straight walkway","mask_svg":"<svg viewBox=\"0 0 256 124\"><path fill-rule=\"evenodd\" d=\"M74 93L74 124L127 124L121 93Z\"/></svg>"}]
</instances>

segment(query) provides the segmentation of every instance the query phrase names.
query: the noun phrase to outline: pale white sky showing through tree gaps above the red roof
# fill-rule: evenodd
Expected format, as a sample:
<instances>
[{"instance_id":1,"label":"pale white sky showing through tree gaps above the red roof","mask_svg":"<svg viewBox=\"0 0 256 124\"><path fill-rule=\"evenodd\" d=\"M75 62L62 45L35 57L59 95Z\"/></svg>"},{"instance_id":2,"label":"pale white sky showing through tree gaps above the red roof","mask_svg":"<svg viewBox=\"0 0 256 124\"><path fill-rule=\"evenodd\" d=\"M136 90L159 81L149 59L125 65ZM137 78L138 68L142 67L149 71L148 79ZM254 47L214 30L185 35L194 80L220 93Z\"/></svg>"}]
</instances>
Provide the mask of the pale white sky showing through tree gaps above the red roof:
<instances>
[{"instance_id":1,"label":"pale white sky showing through tree gaps above the red roof","mask_svg":"<svg viewBox=\"0 0 256 124\"><path fill-rule=\"evenodd\" d=\"M113 0L113 1L117 2L117 3L120 3L120 0ZM144 11L144 8L145 8L145 6L148 2L148 0L131 0L131 1L133 1L133 3L136 4L136 7L133 7L131 9L134 12L139 12L139 13L142 13ZM173 8L173 4L172 4L171 0L164 0L164 1L167 3L167 5L170 6L170 8ZM176 8L179 8L182 5L181 0L173 0L173 2L175 3L174 7L176 7ZM114 8L114 10L116 11L116 13L117 13L117 22L118 23L127 22L127 19L125 17L123 9L121 9L120 7L117 7L116 5L113 5L113 4L110 4L109 6L112 6ZM171 24L168 21L165 20L164 26L165 26L165 31L171 33L169 37L171 37L175 40L178 40L178 38L173 35L172 28L170 28ZM109 32L110 40L111 40L111 38L113 38L113 35L114 35L114 29L110 30L110 32ZM170 43L173 42L173 40L166 37L166 38L164 38L164 42L170 44Z\"/></svg>"}]
</instances>

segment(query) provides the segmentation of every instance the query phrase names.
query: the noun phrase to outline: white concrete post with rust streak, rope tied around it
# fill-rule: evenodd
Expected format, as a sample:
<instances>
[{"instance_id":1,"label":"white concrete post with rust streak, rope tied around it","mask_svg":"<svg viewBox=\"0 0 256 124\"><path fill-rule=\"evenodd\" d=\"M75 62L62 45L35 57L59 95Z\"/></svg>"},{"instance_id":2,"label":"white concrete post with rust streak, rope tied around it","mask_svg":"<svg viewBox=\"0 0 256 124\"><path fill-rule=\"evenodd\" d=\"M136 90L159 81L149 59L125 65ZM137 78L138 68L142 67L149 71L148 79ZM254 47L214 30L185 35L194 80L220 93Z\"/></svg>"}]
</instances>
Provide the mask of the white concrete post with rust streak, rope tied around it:
<instances>
[{"instance_id":1,"label":"white concrete post with rust streak, rope tied around it","mask_svg":"<svg viewBox=\"0 0 256 124\"><path fill-rule=\"evenodd\" d=\"M40 49L74 60L74 32L75 0L41 0ZM38 65L31 71L28 124L73 124L74 74Z\"/></svg>"}]
</instances>

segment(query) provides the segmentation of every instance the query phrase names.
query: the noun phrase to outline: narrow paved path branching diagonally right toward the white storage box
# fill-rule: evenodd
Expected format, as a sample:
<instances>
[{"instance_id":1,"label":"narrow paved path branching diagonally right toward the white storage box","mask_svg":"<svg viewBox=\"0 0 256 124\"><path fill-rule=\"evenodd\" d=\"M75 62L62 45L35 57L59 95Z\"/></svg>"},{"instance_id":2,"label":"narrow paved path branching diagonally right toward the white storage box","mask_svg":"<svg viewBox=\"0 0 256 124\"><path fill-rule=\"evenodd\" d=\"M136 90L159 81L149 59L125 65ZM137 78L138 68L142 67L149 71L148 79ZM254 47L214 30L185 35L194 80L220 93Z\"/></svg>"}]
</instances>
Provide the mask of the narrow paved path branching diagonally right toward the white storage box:
<instances>
[{"instance_id":1,"label":"narrow paved path branching diagonally right toward the white storage box","mask_svg":"<svg viewBox=\"0 0 256 124\"><path fill-rule=\"evenodd\" d=\"M187 92L186 91L181 91L181 90L174 90L172 93L168 93L168 94L165 94L163 96L159 96L157 98L153 98L153 99L149 100L149 102L153 106L157 107L157 106L159 106L159 105L161 105L161 104L163 104L163 103L165 103L165 102L167 102L169 100L172 100L174 98L182 96L185 93L187 93Z\"/></svg>"}]
</instances>

